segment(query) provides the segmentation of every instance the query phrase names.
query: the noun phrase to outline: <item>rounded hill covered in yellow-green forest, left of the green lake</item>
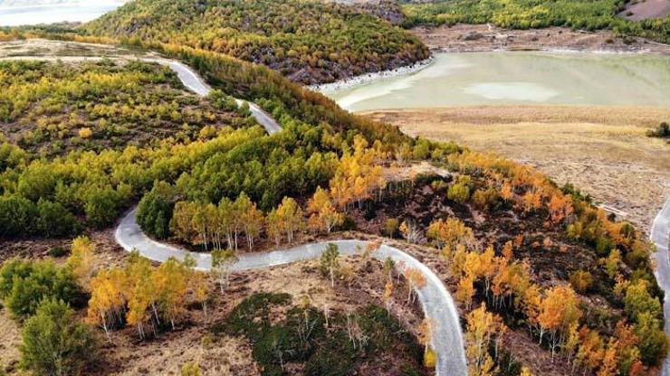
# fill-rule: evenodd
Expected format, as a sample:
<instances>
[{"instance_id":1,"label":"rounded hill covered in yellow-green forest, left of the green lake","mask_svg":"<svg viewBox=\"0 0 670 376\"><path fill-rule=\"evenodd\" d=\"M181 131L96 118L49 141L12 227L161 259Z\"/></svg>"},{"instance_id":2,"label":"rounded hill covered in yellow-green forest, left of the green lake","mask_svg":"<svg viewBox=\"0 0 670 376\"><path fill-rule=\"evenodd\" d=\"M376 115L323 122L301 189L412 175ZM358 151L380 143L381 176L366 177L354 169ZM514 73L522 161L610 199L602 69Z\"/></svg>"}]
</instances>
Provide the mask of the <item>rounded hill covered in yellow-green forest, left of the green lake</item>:
<instances>
[{"instance_id":1,"label":"rounded hill covered in yellow-green forest, left of the green lake","mask_svg":"<svg viewBox=\"0 0 670 376\"><path fill-rule=\"evenodd\" d=\"M428 57L418 39L375 16L297 0L139 0L84 30L222 52L301 83L384 71Z\"/></svg>"}]
</instances>

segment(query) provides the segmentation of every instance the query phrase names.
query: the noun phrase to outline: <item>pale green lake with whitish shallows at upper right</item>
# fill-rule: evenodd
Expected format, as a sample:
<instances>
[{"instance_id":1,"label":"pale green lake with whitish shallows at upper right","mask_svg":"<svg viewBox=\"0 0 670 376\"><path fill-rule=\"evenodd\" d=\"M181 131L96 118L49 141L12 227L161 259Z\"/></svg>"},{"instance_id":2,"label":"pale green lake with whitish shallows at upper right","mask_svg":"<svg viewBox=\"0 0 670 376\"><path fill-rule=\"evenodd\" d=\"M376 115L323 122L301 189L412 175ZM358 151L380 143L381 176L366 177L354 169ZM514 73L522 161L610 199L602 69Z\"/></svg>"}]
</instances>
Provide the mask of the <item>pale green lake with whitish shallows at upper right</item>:
<instances>
[{"instance_id":1,"label":"pale green lake with whitish shallows at upper right","mask_svg":"<svg viewBox=\"0 0 670 376\"><path fill-rule=\"evenodd\" d=\"M437 53L421 71L324 94L352 111L468 105L670 107L670 57L598 52Z\"/></svg>"}]
</instances>

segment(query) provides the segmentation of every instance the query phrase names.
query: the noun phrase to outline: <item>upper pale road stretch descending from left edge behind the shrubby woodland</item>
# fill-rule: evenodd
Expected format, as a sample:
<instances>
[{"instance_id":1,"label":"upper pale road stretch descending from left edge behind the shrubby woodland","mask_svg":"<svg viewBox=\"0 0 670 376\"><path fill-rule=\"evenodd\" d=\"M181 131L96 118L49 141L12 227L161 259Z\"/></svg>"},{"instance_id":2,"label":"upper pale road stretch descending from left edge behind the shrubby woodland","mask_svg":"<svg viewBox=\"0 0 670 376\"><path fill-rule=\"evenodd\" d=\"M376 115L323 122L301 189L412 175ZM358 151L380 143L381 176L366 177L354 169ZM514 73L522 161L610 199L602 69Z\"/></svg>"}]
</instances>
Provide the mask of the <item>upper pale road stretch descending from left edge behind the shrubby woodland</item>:
<instances>
[{"instance_id":1,"label":"upper pale road stretch descending from left edge behind the shrubby woodland","mask_svg":"<svg viewBox=\"0 0 670 376\"><path fill-rule=\"evenodd\" d=\"M0 60L44 60L44 61L99 61L103 59L102 57L96 56L12 56L0 58ZM107 58L109 59L109 58ZM112 58L112 60L114 60ZM126 59L128 60L128 59ZM161 65L168 66L172 71L177 73L177 77L184 86L196 93L201 97L206 97L207 94L212 90L204 80L197 75L186 64L179 61L168 60L168 59L151 59L151 58L139 58L137 60L155 62ZM237 106L242 106L244 103L249 105L249 110L251 111L252 116L256 119L258 124L263 126L268 134L273 134L282 130L282 127L277 123L267 112L263 111L258 105L253 102L249 102L243 99L235 99Z\"/></svg>"}]
</instances>

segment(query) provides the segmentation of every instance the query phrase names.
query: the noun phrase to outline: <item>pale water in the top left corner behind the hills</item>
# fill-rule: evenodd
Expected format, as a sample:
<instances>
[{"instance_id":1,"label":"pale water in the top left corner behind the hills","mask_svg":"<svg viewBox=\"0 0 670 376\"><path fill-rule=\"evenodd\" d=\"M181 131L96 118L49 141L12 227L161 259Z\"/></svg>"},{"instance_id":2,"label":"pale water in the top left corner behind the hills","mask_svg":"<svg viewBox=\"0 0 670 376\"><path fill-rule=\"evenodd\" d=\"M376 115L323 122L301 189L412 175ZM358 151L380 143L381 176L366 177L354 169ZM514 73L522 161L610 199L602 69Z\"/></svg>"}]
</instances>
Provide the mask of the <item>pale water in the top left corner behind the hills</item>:
<instances>
[{"instance_id":1,"label":"pale water in the top left corner behind the hills","mask_svg":"<svg viewBox=\"0 0 670 376\"><path fill-rule=\"evenodd\" d=\"M0 7L0 26L86 22L118 8L117 1Z\"/></svg>"}]
</instances>

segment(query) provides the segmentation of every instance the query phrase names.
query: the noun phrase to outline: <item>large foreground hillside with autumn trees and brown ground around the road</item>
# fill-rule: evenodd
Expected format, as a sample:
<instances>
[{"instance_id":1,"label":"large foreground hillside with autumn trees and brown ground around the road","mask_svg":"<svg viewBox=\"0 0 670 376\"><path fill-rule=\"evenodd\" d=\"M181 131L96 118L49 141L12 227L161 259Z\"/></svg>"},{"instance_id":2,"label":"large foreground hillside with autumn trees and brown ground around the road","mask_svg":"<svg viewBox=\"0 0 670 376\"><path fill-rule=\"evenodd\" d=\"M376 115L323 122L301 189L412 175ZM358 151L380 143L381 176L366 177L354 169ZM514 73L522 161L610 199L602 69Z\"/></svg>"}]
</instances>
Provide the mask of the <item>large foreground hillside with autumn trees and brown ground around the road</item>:
<instances>
[{"instance_id":1,"label":"large foreground hillside with autumn trees and brown ground around the road","mask_svg":"<svg viewBox=\"0 0 670 376\"><path fill-rule=\"evenodd\" d=\"M426 276L372 261L378 247L354 258L329 248L318 261L268 274L230 269L239 255L263 258L259 252L351 238L403 249L445 283L458 302L471 374L658 371L667 339L652 248L575 187L351 115L262 65L177 43L133 44L188 63L225 95L253 100L283 129L267 135L241 124L158 143L132 145L130 137L128 145L84 152L72 142L39 155L13 142L21 130L7 123L0 146L3 318L15 321L12 338L23 328L28 344L45 327L76 336L63 344L77 350L64 356L72 361L64 373L199 374L202 367L206 374L320 375L343 364L340 373L431 372L433 324L417 314L413 289ZM108 65L14 63L6 70L21 93L31 93L26 82L43 74L62 84L58 74L76 78L91 69L104 81L117 73L149 80L142 86L156 99L152 106L174 94L184 97L175 99L187 104L184 112L215 108L212 98L196 104L173 91L174 76L160 67ZM89 81L70 87L87 95L54 97L56 117L62 103L94 108L124 99L126 89L141 96L128 78L128 88L101 95L91 94ZM3 103L19 110L6 113L33 127L31 114L48 103L25 95L14 104L14 97ZM136 204L148 236L213 255L213 273L195 270L193 259L156 265L121 249L115 223ZM81 346L89 334L104 344ZM26 348L24 359L40 354L38 346ZM8 372L17 370L12 357ZM53 365L26 363L37 373Z\"/></svg>"}]
</instances>

